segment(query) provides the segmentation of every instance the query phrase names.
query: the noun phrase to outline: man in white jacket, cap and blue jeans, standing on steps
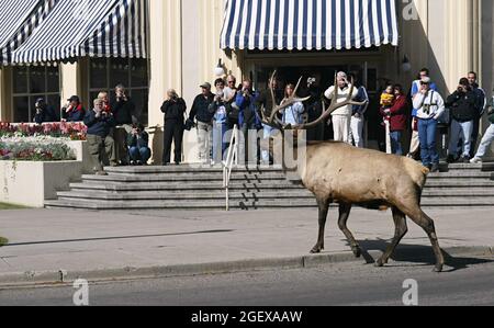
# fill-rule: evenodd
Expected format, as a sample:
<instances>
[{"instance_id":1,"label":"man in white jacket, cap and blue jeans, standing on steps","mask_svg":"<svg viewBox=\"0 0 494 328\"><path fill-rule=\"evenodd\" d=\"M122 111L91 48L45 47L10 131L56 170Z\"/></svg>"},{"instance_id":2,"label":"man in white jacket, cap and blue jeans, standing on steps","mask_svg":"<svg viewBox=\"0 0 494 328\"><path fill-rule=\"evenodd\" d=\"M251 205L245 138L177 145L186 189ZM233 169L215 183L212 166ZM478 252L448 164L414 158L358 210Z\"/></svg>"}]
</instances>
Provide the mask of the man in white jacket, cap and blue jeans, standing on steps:
<instances>
[{"instance_id":1,"label":"man in white jacket, cap and blue jeans, standing on steps","mask_svg":"<svg viewBox=\"0 0 494 328\"><path fill-rule=\"evenodd\" d=\"M431 172L439 171L439 154L436 146L438 120L445 113L445 101L439 92L431 90L430 78L420 80L419 92L414 98L417 110L418 139L420 142L422 163Z\"/></svg>"}]
</instances>

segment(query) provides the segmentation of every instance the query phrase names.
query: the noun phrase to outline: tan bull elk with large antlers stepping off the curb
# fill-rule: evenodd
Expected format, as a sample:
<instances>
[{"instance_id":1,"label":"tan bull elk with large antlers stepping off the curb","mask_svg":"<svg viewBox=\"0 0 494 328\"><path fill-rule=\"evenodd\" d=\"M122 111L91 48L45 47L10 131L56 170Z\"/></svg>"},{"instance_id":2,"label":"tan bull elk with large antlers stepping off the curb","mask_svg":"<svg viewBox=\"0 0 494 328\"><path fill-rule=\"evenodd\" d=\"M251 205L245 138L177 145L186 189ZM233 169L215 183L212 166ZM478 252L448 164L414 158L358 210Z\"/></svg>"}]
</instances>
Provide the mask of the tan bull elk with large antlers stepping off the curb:
<instances>
[{"instance_id":1,"label":"tan bull elk with large antlers stepping off the curb","mask_svg":"<svg viewBox=\"0 0 494 328\"><path fill-rule=\"evenodd\" d=\"M276 78L276 72L272 79ZM302 80L302 79L301 79ZM338 94L335 77L335 91L329 106L323 102L323 114L315 122L287 126L278 117L288 106L305 99L293 95L277 105L273 90L271 90L274 108L267 115L261 109L265 124L278 128L301 131L315 127L327 120L334 111L346 105L363 105L352 100L353 79L351 79L348 98ZM340 98L339 98L340 97ZM339 98L339 99L338 99ZM351 250L357 258L361 256L361 248L347 227L347 222L353 205L367 208L392 208L395 235L383 256L377 261L377 267L383 267L394 253L396 247L408 231L406 217L420 226L428 235L436 256L436 272L441 272L445 259L439 247L434 220L420 208L420 199L429 170L406 157L386 155L377 150L359 149L337 142L307 143L304 162L297 163L297 174L303 185L317 199L319 231L317 244L311 250L319 253L324 250L324 235L326 219L332 203L339 204L338 226L345 234ZM299 149L300 150L300 149ZM303 149L302 149L303 150Z\"/></svg>"}]
</instances>

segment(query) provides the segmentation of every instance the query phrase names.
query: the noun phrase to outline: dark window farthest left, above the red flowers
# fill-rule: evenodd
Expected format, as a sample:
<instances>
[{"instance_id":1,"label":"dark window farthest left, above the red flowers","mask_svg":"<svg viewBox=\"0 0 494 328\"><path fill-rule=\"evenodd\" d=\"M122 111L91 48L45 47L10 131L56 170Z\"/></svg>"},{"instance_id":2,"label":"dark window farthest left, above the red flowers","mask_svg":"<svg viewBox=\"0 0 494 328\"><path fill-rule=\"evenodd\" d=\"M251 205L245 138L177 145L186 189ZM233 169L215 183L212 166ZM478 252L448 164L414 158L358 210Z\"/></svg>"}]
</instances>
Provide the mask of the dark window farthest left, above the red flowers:
<instances>
[{"instance_id":1,"label":"dark window farthest left, above the red flowers","mask_svg":"<svg viewBox=\"0 0 494 328\"><path fill-rule=\"evenodd\" d=\"M57 112L60 111L60 73L57 66L20 66L12 73L13 122L34 120L36 99L43 98Z\"/></svg>"}]
</instances>

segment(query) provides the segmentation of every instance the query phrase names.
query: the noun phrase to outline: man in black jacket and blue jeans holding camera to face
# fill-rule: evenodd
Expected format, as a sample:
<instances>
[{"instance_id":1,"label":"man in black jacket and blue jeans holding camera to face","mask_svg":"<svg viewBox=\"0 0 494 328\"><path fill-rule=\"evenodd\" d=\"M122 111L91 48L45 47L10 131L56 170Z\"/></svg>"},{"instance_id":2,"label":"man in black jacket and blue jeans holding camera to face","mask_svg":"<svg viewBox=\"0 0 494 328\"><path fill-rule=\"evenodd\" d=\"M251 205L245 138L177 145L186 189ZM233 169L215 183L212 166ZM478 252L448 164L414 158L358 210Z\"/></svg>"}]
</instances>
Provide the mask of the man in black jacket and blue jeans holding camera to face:
<instances>
[{"instance_id":1,"label":"man in black jacket and blue jeans holding camera to face","mask_svg":"<svg viewBox=\"0 0 494 328\"><path fill-rule=\"evenodd\" d=\"M448 149L448 162L450 163L458 160L460 136L463 143L461 161L470 162L473 121L476 117L478 102L478 95L465 78L460 80L457 91L446 100L446 106L450 109L451 115L451 135Z\"/></svg>"}]
</instances>

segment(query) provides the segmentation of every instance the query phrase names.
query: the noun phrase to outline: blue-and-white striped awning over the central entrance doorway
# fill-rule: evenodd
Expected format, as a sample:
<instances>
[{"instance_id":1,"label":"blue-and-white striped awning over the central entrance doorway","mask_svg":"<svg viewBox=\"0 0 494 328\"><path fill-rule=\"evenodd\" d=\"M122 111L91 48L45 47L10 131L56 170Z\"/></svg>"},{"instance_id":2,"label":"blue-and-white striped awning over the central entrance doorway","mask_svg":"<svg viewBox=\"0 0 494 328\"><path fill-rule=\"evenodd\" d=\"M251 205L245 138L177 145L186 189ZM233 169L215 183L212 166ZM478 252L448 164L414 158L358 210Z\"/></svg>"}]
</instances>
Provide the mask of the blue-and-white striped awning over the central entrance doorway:
<instances>
[{"instance_id":1,"label":"blue-and-white striped awning over the central entrance doorway","mask_svg":"<svg viewBox=\"0 0 494 328\"><path fill-rule=\"evenodd\" d=\"M223 49L398 45L395 0L227 0Z\"/></svg>"}]
</instances>

